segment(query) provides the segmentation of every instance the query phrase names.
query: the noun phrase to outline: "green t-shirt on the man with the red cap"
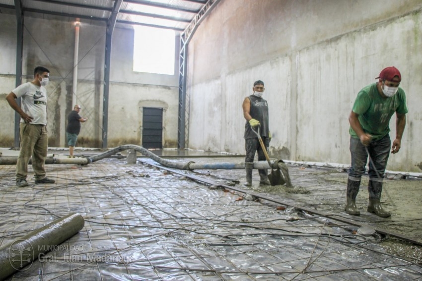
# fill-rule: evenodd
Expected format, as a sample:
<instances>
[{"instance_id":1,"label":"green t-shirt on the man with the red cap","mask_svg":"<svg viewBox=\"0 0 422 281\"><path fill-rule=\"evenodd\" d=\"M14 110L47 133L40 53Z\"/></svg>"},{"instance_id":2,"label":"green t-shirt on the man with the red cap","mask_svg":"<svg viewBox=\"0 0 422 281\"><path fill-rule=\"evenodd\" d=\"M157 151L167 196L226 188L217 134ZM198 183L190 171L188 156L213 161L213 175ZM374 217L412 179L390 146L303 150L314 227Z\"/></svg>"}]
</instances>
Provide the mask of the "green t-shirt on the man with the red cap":
<instances>
[{"instance_id":1,"label":"green t-shirt on the man with the red cap","mask_svg":"<svg viewBox=\"0 0 422 281\"><path fill-rule=\"evenodd\" d=\"M352 111L359 115L359 123L365 133L372 135L372 140L379 140L390 131L390 118L394 112L406 114L406 94L399 87L397 93L383 98L378 93L376 83L366 86L357 94ZM358 138L350 127L349 133Z\"/></svg>"}]
</instances>

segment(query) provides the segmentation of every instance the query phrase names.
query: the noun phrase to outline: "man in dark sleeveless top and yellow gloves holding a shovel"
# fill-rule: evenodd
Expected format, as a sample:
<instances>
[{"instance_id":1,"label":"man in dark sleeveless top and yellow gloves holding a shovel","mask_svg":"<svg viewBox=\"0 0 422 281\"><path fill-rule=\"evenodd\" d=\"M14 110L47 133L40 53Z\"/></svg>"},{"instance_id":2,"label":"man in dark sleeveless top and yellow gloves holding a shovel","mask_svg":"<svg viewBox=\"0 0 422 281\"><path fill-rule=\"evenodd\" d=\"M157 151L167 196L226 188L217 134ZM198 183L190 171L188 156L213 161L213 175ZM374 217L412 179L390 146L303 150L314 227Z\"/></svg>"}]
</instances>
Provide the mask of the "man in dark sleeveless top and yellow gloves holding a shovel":
<instances>
[{"instance_id":1,"label":"man in dark sleeveless top and yellow gloves holding a shovel","mask_svg":"<svg viewBox=\"0 0 422 281\"><path fill-rule=\"evenodd\" d=\"M246 119L244 135L246 149L245 186L252 185L252 170L254 166L255 153L258 152L258 161L265 160L264 151L261 148L257 135L252 131L251 127L254 127L254 130L256 131L257 127L259 126L260 135L265 144L267 152L271 140L271 133L268 125L268 103L262 98L265 90L264 82L261 80L255 81L252 90L253 94L249 97L246 97L242 105L243 116ZM270 181L268 180L267 169L260 169L258 170L258 173L260 176L260 184L269 185Z\"/></svg>"}]
</instances>

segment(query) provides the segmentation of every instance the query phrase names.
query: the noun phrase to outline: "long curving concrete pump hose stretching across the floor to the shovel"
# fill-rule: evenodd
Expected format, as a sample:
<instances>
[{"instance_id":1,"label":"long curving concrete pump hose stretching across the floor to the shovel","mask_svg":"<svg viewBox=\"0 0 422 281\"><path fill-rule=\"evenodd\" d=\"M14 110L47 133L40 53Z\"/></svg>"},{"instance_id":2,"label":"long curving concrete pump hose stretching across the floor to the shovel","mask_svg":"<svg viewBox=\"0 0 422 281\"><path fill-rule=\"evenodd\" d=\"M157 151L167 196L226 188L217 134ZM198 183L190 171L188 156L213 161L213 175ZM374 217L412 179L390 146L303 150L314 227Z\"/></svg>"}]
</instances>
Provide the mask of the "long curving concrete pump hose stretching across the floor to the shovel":
<instances>
[{"instance_id":1,"label":"long curving concrete pump hose stretching across the floor to the shovel","mask_svg":"<svg viewBox=\"0 0 422 281\"><path fill-rule=\"evenodd\" d=\"M153 154L146 148L143 148L138 145L127 144L122 145L106 152L89 156L86 158L55 158L47 157L45 164L73 164L73 165L87 165L92 162L102 160L104 158L110 157L116 153L125 151L125 150L135 150L140 152L142 155L154 160L155 162L173 169L182 169L182 170L194 170L194 169L245 169L245 163L195 163L195 162L181 162L181 161L171 161L163 159ZM276 160L272 162L273 169L279 169L278 163L282 162L281 160ZM0 165L16 165L17 157L0 157ZM254 162L254 169L270 169L270 166L266 161L256 161Z\"/></svg>"}]
</instances>

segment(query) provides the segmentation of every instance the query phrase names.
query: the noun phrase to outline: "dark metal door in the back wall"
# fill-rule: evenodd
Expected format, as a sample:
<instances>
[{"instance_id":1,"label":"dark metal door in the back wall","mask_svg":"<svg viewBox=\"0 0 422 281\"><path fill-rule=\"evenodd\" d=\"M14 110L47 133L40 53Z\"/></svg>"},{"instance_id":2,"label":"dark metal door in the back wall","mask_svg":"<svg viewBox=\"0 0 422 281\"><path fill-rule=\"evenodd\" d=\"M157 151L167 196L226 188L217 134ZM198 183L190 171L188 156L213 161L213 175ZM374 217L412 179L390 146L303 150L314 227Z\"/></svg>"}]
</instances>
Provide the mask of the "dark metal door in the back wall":
<instances>
[{"instance_id":1,"label":"dark metal door in the back wall","mask_svg":"<svg viewBox=\"0 0 422 281\"><path fill-rule=\"evenodd\" d=\"M163 148L163 109L143 108L142 147Z\"/></svg>"}]
</instances>

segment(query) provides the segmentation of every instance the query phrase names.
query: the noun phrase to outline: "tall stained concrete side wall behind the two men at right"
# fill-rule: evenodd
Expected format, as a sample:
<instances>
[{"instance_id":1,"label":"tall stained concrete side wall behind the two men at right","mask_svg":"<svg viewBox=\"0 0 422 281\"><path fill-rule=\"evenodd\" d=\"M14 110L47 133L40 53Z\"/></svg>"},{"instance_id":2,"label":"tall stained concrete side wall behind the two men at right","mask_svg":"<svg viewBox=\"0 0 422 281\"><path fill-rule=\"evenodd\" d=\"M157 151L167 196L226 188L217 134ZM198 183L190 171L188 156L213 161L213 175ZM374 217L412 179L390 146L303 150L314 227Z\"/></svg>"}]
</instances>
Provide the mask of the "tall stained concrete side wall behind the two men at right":
<instances>
[{"instance_id":1,"label":"tall stained concrete side wall behind the two men at right","mask_svg":"<svg viewBox=\"0 0 422 281\"><path fill-rule=\"evenodd\" d=\"M409 113L387 169L421 171L421 11L421 0L221 0L189 43L189 147L243 154L242 101L261 79L271 156L350 164L355 96L395 65Z\"/></svg>"}]
</instances>

